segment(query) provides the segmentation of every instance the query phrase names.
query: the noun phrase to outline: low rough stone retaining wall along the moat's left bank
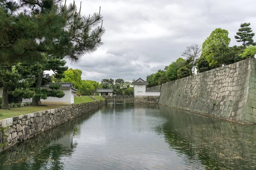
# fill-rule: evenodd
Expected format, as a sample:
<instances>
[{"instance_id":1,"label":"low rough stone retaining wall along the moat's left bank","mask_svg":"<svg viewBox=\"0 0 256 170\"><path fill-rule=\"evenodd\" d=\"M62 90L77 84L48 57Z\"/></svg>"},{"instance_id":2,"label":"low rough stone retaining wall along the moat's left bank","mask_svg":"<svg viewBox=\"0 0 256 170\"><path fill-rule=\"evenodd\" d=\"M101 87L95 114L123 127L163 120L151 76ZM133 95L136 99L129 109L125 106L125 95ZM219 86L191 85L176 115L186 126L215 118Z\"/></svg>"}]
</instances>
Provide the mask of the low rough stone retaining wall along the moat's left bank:
<instances>
[{"instance_id":1,"label":"low rough stone retaining wall along the moat's left bank","mask_svg":"<svg viewBox=\"0 0 256 170\"><path fill-rule=\"evenodd\" d=\"M104 104L81 103L0 120L0 152Z\"/></svg>"}]
</instances>

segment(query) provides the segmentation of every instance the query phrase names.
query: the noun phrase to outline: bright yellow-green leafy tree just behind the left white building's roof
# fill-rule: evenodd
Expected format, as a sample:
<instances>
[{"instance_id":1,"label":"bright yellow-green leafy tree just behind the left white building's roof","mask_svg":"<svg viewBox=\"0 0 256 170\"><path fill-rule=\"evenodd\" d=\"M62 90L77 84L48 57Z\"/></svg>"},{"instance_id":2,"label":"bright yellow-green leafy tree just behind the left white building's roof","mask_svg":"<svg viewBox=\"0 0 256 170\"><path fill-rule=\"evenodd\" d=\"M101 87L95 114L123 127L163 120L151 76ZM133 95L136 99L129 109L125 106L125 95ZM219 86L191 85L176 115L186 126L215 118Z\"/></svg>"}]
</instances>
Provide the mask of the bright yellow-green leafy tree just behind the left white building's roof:
<instances>
[{"instance_id":1,"label":"bright yellow-green leafy tree just behind the left white building's roof","mask_svg":"<svg viewBox=\"0 0 256 170\"><path fill-rule=\"evenodd\" d=\"M73 70L72 68L64 72L65 78L62 79L62 82L72 82L74 88L80 90L82 85L82 71L79 69Z\"/></svg>"}]
</instances>

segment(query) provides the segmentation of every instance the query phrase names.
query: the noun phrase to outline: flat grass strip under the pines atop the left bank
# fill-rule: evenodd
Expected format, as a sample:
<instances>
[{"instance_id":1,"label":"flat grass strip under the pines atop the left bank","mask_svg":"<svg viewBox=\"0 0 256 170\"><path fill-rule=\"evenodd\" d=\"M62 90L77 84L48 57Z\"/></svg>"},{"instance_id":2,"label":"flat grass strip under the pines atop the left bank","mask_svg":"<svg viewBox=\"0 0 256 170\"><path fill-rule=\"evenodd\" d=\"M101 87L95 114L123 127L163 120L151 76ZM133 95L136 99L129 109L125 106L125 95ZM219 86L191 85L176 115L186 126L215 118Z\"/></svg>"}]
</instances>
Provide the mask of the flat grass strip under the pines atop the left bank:
<instances>
[{"instance_id":1,"label":"flat grass strip under the pines atop the left bank","mask_svg":"<svg viewBox=\"0 0 256 170\"><path fill-rule=\"evenodd\" d=\"M52 105L52 106L26 106L21 108L11 108L10 110L0 109L0 120L10 117L20 116L22 114L34 113L38 111L45 111L49 109L61 108L64 105Z\"/></svg>"}]
</instances>

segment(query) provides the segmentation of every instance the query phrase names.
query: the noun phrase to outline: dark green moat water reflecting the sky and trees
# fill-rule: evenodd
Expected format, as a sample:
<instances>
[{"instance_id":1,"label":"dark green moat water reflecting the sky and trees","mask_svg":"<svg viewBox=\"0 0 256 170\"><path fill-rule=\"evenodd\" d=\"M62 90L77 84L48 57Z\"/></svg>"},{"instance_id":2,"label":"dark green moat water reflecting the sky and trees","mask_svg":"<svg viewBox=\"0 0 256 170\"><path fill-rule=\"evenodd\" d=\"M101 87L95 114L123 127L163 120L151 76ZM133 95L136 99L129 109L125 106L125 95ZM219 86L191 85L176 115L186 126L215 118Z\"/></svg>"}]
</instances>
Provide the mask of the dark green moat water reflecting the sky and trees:
<instances>
[{"instance_id":1,"label":"dark green moat water reflecting the sky and trees","mask_svg":"<svg viewBox=\"0 0 256 170\"><path fill-rule=\"evenodd\" d=\"M256 126L107 104L0 155L0 170L253 170Z\"/></svg>"}]
</instances>

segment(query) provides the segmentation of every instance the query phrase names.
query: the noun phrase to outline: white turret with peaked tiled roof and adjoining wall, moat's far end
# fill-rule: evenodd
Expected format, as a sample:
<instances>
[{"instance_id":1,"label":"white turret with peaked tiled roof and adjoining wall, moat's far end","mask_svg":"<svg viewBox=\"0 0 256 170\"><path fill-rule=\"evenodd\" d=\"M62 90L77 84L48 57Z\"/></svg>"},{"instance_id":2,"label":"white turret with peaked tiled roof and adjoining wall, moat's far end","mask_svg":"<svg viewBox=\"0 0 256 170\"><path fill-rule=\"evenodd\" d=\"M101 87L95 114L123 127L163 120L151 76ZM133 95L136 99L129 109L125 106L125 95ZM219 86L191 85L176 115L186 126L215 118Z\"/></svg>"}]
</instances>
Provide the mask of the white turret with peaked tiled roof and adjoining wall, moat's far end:
<instances>
[{"instance_id":1,"label":"white turret with peaked tiled roof and adjoining wall, moat's far end","mask_svg":"<svg viewBox=\"0 0 256 170\"><path fill-rule=\"evenodd\" d=\"M160 96L161 90L147 90L148 82L139 78L132 83L134 85L134 97L136 96Z\"/></svg>"}]
</instances>

